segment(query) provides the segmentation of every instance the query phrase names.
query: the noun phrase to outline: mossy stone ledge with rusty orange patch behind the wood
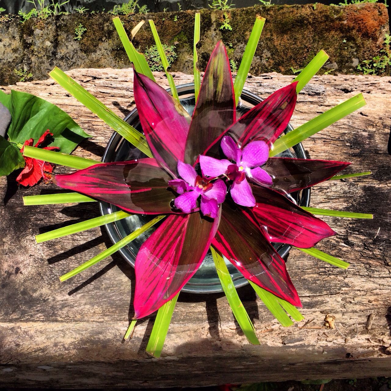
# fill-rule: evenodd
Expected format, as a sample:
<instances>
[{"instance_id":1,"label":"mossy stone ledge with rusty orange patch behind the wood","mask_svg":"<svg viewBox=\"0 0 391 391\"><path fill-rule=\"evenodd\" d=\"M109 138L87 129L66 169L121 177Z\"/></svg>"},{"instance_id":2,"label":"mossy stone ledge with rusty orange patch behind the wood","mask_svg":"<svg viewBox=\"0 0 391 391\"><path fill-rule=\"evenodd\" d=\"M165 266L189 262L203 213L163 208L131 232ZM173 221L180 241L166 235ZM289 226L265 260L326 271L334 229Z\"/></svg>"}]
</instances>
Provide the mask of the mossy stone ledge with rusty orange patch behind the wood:
<instances>
[{"instance_id":1,"label":"mossy stone ledge with rusty orange patch behind the wood","mask_svg":"<svg viewBox=\"0 0 391 391\"><path fill-rule=\"evenodd\" d=\"M357 4L345 7L323 4L254 6L225 11L200 10L201 41L199 63L203 70L215 43L222 39L230 59L240 64L247 39L259 14L266 18L264 31L250 72L292 74L305 66L321 49L330 60L321 72L357 73L357 65L377 56L389 34L387 9L383 4ZM192 47L195 11L121 16L130 31L140 20L153 19L162 43L176 45L178 58L172 72L192 73ZM111 14L70 14L30 19L0 17L0 84L11 84L31 73L29 78L47 78L54 66L72 68L127 68L126 56ZM221 29L228 18L230 29ZM79 24L86 29L75 39ZM148 23L133 40L141 51L154 45ZM389 74L389 69L386 70ZM27 79L26 79L27 80Z\"/></svg>"}]
</instances>

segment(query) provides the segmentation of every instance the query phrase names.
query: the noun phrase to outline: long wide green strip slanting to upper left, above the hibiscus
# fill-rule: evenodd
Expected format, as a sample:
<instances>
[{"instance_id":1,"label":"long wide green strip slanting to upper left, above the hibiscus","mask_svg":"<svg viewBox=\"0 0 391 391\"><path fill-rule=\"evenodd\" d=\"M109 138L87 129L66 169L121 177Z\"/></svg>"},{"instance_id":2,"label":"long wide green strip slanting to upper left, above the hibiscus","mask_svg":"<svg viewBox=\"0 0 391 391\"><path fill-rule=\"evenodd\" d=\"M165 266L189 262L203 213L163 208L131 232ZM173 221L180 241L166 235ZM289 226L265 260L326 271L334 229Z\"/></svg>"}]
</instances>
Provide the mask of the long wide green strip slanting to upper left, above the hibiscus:
<instances>
[{"instance_id":1,"label":"long wide green strip slanting to upper left, above the hibiscus","mask_svg":"<svg viewBox=\"0 0 391 391\"><path fill-rule=\"evenodd\" d=\"M108 124L108 126L129 141L129 143L140 149L140 151L144 152L150 158L152 157L152 153L148 147L147 140L145 140L145 136L133 126L130 126L124 120L115 115L113 111L108 109L102 102L100 102L99 99L91 95L80 84L72 79L72 77L67 76L57 67L54 68L49 75L58 84L65 88L66 91L79 100L79 102L84 104L86 108L90 109L102 121Z\"/></svg>"}]
</instances>

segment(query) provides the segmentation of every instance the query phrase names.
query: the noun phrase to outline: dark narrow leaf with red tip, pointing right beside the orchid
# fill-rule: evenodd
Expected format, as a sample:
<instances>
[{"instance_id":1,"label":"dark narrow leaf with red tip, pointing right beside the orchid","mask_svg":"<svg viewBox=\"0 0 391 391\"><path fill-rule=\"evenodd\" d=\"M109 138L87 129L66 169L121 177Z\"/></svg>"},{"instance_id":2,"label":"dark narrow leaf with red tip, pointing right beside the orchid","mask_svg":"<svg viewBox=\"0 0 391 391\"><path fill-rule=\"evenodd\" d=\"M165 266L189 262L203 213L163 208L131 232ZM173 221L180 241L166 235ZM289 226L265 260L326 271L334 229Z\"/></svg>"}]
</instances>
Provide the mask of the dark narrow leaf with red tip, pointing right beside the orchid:
<instances>
[{"instance_id":1,"label":"dark narrow leaf with red tip, pointing right beside the orchid","mask_svg":"<svg viewBox=\"0 0 391 391\"><path fill-rule=\"evenodd\" d=\"M348 165L346 161L269 158L264 169L273 178L272 188L291 193L326 181Z\"/></svg>"}]
</instances>

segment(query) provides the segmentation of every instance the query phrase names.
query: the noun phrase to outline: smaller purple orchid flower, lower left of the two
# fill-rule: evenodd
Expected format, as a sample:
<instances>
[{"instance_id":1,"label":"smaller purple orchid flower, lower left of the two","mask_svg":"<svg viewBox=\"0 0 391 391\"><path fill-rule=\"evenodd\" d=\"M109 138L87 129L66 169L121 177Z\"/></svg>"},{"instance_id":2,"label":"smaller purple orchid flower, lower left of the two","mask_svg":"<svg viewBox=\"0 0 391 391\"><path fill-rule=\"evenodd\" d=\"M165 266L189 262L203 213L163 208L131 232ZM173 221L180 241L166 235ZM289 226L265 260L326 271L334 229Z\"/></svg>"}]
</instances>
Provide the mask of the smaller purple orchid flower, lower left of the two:
<instances>
[{"instance_id":1,"label":"smaller purple orchid flower, lower left of the two","mask_svg":"<svg viewBox=\"0 0 391 391\"><path fill-rule=\"evenodd\" d=\"M169 185L180 194L174 205L182 212L190 213L197 208L197 199L201 196L201 212L204 216L215 219L218 216L219 204L224 202L227 187L221 179L211 183L197 175L190 164L178 161L178 173L183 179L173 179Z\"/></svg>"}]
</instances>

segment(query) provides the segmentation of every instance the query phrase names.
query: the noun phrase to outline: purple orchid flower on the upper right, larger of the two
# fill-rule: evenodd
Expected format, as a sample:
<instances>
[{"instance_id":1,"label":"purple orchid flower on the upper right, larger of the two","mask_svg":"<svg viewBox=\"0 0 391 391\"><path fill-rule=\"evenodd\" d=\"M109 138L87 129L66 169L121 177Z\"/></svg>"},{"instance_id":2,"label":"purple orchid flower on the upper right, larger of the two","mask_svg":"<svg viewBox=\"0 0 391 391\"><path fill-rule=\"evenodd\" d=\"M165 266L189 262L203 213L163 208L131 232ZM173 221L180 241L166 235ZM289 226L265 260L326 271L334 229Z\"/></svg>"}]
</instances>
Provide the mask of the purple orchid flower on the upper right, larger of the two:
<instances>
[{"instance_id":1,"label":"purple orchid flower on the upper right, larger of the two","mask_svg":"<svg viewBox=\"0 0 391 391\"><path fill-rule=\"evenodd\" d=\"M269 146L262 140L252 141L241 150L230 136L224 136L221 149L235 164L226 159L201 155L199 163L203 175L226 176L233 181L230 188L233 201L242 206L255 206L255 198L246 177L261 186L273 185L271 176L260 167L269 158Z\"/></svg>"}]
</instances>

